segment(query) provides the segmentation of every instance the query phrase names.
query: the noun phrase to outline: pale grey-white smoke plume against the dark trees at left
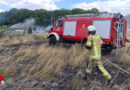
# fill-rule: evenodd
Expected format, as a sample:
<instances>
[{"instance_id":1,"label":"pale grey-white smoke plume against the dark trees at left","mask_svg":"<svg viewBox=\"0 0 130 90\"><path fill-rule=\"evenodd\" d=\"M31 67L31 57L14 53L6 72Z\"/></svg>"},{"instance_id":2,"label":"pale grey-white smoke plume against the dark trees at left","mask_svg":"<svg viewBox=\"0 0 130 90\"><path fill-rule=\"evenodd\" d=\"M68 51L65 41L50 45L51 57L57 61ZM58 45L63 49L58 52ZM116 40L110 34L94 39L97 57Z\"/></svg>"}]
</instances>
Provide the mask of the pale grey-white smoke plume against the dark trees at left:
<instances>
[{"instance_id":1,"label":"pale grey-white smoke plume against the dark trees at left","mask_svg":"<svg viewBox=\"0 0 130 90\"><path fill-rule=\"evenodd\" d=\"M26 19L22 23L17 23L14 24L13 26L10 27L10 29L23 29L23 30L28 30L29 28L34 28L35 25L35 19L34 18L29 18Z\"/></svg>"}]
</instances>

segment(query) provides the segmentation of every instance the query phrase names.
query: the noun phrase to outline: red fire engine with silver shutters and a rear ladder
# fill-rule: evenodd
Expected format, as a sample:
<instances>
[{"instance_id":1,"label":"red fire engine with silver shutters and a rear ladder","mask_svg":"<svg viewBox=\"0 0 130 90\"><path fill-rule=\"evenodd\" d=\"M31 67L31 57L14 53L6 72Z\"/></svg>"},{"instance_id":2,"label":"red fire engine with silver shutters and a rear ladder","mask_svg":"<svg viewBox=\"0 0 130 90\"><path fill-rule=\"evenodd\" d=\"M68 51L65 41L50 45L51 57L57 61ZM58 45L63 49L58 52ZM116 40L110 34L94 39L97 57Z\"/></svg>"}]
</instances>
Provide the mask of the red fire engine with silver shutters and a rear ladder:
<instances>
[{"instance_id":1,"label":"red fire engine with silver shutters and a rear ladder","mask_svg":"<svg viewBox=\"0 0 130 90\"><path fill-rule=\"evenodd\" d=\"M49 30L49 44L65 41L85 43L89 25L96 27L96 34L103 40L104 47L125 46L127 21L120 13L77 14L59 18Z\"/></svg>"}]
</instances>

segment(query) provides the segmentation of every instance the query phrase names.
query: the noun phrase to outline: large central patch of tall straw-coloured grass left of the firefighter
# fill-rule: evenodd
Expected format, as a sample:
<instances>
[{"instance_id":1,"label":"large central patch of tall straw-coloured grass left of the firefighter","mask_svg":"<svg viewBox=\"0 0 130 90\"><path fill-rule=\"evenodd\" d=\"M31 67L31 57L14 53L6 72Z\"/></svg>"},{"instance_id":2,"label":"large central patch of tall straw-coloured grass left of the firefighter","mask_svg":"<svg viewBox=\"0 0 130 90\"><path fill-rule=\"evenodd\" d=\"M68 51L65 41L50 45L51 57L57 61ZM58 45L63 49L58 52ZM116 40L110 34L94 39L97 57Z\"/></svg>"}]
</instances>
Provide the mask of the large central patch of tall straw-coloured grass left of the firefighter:
<instances>
[{"instance_id":1,"label":"large central patch of tall straw-coloured grass left of the firefighter","mask_svg":"<svg viewBox=\"0 0 130 90\"><path fill-rule=\"evenodd\" d=\"M40 72L41 78L50 79L59 72L62 72L67 66L82 67L86 60L88 60L88 52L81 46L66 49L63 47L48 47L47 45L41 45L37 48L21 47L14 55L2 60L2 63L16 65L21 62L27 62L28 64L25 65L21 72L24 72L25 69L27 69L27 74L31 75ZM32 61L34 61L34 64L30 65ZM29 65L30 67L28 68ZM8 73L8 70L4 71L4 73L6 72Z\"/></svg>"}]
</instances>

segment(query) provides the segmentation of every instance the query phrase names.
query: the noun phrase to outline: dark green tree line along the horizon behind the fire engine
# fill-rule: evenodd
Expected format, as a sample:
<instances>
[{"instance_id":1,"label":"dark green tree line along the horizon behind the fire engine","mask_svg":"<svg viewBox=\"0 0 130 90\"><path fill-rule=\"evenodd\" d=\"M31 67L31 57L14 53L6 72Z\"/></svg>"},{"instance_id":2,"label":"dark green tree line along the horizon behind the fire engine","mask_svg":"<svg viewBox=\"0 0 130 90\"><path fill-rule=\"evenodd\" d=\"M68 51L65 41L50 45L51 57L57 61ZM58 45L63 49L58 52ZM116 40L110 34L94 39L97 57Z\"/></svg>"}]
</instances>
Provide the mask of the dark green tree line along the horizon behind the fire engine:
<instances>
[{"instance_id":1,"label":"dark green tree line along the horizon behind the fire engine","mask_svg":"<svg viewBox=\"0 0 130 90\"><path fill-rule=\"evenodd\" d=\"M54 11L47 11L44 9L39 10L28 10L28 9L16 9L13 8L9 11L0 13L0 26L2 25L13 25L19 22L23 22L25 19L34 18L36 25L47 26L54 22L59 16L65 16L70 14L87 14L87 13L100 13L98 9L93 8L91 10L83 9L61 9Z\"/></svg>"}]
</instances>

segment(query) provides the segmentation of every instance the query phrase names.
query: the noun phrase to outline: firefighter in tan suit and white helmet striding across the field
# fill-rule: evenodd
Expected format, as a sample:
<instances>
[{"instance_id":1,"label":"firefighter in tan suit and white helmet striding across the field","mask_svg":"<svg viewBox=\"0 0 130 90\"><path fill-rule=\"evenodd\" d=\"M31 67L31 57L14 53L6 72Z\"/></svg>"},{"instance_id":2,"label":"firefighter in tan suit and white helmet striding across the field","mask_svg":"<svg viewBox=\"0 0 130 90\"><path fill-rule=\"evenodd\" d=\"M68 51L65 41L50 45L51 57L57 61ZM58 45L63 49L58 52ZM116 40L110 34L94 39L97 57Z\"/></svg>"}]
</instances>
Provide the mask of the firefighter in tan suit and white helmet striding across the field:
<instances>
[{"instance_id":1,"label":"firefighter in tan suit and white helmet striding across the field","mask_svg":"<svg viewBox=\"0 0 130 90\"><path fill-rule=\"evenodd\" d=\"M110 80L112 77L103 67L101 62L101 46L103 44L101 38L96 33L96 28L92 25L88 26L88 40L86 43L86 48L90 50L89 62L88 67L86 69L85 77L89 76L92 72L92 67L97 66L98 69L102 72L103 76Z\"/></svg>"}]
</instances>

